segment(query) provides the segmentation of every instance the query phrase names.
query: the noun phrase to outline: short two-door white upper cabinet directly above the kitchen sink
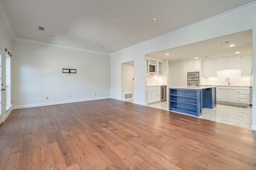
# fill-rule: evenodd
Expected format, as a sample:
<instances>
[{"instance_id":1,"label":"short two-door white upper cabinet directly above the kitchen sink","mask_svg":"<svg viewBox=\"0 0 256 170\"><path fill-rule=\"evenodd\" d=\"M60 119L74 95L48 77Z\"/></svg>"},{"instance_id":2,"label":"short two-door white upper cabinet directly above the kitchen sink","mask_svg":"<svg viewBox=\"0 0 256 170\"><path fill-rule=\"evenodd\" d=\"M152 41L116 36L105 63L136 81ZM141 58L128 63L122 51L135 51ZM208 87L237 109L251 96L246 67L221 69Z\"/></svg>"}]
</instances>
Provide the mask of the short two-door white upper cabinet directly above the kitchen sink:
<instances>
[{"instance_id":1,"label":"short two-door white upper cabinet directly above the kitchen sink","mask_svg":"<svg viewBox=\"0 0 256 170\"><path fill-rule=\"evenodd\" d=\"M240 69L240 56L217 58L217 70Z\"/></svg>"}]
</instances>

